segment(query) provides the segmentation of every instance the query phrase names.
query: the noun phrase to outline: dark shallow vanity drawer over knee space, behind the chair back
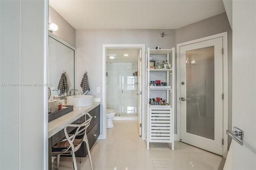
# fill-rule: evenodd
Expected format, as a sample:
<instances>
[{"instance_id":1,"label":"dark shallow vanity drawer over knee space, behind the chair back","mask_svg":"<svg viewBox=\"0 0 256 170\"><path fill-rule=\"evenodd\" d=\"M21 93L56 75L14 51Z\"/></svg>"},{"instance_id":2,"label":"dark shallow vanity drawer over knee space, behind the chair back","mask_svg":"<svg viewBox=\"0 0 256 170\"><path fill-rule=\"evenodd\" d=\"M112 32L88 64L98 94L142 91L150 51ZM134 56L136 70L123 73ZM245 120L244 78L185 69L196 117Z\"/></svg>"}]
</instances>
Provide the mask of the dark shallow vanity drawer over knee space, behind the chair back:
<instances>
[{"instance_id":1,"label":"dark shallow vanity drawer over knee space, behind the chair back","mask_svg":"<svg viewBox=\"0 0 256 170\"><path fill-rule=\"evenodd\" d=\"M77 119L76 121L74 121L72 124L81 124L84 121L85 121L85 116L82 116L79 119ZM68 127L67 132L70 133L74 129L75 129L75 127ZM54 146L58 141L62 140L64 137L65 137L64 129L62 129L62 130L60 130L60 132L54 134L52 136L52 146Z\"/></svg>"}]
</instances>

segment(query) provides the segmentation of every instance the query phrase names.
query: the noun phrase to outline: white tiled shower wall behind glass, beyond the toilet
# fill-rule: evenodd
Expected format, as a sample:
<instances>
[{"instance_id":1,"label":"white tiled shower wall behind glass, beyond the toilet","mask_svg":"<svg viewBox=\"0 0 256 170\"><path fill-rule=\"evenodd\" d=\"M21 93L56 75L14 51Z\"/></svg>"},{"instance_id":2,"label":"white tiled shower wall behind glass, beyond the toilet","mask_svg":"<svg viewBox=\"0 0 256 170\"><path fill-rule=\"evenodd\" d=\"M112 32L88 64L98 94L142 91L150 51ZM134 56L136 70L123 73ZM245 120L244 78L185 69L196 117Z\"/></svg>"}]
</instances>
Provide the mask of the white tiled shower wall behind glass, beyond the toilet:
<instances>
[{"instance_id":1,"label":"white tiled shower wall behind glass, beyond the toilet","mask_svg":"<svg viewBox=\"0 0 256 170\"><path fill-rule=\"evenodd\" d=\"M106 65L106 105L114 109L116 115L138 115L138 71L136 63L107 63Z\"/></svg>"}]
</instances>

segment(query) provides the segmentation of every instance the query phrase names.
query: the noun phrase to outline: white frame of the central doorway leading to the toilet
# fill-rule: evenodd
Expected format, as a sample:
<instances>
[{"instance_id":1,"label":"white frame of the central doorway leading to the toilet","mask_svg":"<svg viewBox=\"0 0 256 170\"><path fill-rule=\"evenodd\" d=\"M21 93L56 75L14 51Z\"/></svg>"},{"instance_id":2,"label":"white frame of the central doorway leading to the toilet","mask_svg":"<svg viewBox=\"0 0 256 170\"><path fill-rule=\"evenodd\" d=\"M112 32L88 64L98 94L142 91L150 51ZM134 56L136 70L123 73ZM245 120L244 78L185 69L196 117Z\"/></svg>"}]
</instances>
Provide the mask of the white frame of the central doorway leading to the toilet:
<instances>
[{"instance_id":1,"label":"white frame of the central doorway leading to the toilet","mask_svg":"<svg viewBox=\"0 0 256 170\"><path fill-rule=\"evenodd\" d=\"M102 45L102 135L99 136L101 139L107 137L107 128L106 128L106 50L107 48L138 48L142 52L142 140L145 140L145 86L146 86L146 69L145 69L145 55L146 55L146 45L145 44L103 44Z\"/></svg>"}]
</instances>

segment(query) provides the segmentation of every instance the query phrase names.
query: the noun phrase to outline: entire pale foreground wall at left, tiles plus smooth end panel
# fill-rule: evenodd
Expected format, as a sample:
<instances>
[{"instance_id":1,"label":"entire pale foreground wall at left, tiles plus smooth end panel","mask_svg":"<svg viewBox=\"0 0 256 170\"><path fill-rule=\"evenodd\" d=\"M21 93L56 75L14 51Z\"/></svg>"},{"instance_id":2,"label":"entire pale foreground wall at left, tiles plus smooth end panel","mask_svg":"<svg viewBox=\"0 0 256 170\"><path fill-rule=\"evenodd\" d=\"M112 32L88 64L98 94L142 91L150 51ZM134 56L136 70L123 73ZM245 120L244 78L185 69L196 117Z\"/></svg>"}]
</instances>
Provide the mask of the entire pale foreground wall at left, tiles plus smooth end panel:
<instances>
[{"instance_id":1,"label":"entire pale foreground wall at left, tiles plus smooth end panel","mask_svg":"<svg viewBox=\"0 0 256 170\"><path fill-rule=\"evenodd\" d=\"M0 169L46 169L47 1L0 1ZM31 24L33 23L33 24ZM45 90L44 90L45 89Z\"/></svg>"}]
</instances>

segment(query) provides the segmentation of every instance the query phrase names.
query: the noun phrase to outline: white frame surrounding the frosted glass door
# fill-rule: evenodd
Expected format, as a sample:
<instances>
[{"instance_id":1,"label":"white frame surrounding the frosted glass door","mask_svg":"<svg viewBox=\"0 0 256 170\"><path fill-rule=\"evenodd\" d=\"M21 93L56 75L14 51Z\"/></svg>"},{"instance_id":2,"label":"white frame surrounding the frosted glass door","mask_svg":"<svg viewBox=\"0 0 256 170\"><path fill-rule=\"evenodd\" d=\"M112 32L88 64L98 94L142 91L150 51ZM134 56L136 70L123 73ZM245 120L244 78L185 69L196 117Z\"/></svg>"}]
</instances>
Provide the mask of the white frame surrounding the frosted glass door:
<instances>
[{"instance_id":1,"label":"white frame surrounding the frosted glass door","mask_svg":"<svg viewBox=\"0 0 256 170\"><path fill-rule=\"evenodd\" d=\"M199 38L196 40L179 43L177 44L177 139L180 139L180 47L189 45L192 43L198 43L214 38L223 38L223 131L222 136L224 139L223 143L223 158L227 157L228 154L228 136L226 135L226 129L228 129L228 32Z\"/></svg>"}]
</instances>

